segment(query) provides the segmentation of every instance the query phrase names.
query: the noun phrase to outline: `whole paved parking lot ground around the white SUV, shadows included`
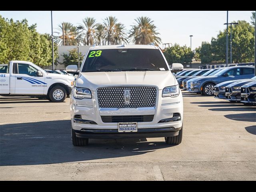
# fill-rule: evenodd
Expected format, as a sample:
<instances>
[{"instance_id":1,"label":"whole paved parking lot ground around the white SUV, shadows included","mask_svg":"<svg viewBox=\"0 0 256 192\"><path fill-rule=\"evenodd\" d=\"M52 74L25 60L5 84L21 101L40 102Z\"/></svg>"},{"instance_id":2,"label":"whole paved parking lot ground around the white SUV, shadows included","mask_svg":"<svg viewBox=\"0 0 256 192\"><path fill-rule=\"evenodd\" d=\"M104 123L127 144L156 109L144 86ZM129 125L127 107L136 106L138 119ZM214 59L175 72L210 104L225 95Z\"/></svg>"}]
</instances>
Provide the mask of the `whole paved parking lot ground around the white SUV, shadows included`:
<instances>
[{"instance_id":1,"label":"whole paved parking lot ground around the white SUV, shadows included","mask_svg":"<svg viewBox=\"0 0 256 192\"><path fill-rule=\"evenodd\" d=\"M0 180L256 180L256 107L183 92L180 145L70 138L69 98L0 97Z\"/></svg>"}]
</instances>

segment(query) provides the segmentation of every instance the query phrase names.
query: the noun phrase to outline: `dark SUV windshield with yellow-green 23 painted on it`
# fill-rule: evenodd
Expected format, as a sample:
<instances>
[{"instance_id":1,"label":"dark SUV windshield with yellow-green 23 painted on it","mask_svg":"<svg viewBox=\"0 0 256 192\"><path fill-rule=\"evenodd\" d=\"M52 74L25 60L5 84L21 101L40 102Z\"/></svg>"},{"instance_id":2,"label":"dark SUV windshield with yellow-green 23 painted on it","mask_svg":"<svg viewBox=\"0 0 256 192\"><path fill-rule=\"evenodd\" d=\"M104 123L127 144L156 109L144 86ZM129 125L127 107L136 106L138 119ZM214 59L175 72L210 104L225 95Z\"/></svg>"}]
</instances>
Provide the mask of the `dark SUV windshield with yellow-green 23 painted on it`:
<instances>
[{"instance_id":1,"label":"dark SUV windshield with yellow-green 23 painted on it","mask_svg":"<svg viewBox=\"0 0 256 192\"><path fill-rule=\"evenodd\" d=\"M103 49L91 50L81 72L168 70L158 49Z\"/></svg>"}]
</instances>

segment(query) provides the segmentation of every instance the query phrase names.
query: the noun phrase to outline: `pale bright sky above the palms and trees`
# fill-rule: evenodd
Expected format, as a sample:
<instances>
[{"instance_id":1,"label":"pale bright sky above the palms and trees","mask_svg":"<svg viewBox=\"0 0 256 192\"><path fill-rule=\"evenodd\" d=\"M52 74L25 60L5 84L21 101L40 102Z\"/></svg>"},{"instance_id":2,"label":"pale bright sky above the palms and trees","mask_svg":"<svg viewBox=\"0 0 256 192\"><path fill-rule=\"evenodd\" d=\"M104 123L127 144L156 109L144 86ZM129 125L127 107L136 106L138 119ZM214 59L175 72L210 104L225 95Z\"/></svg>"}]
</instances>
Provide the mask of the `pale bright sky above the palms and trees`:
<instances>
[{"instance_id":1,"label":"pale bright sky above the palms and trees","mask_svg":"<svg viewBox=\"0 0 256 192\"><path fill-rule=\"evenodd\" d=\"M0 11L0 15L14 20L26 18L29 25L37 24L39 33L51 34L50 11ZM85 17L94 17L102 23L107 16L115 16L127 30L135 23L135 18L147 16L154 21L162 43L190 46L190 35L193 35L192 50L201 46L202 41L210 42L212 37L216 38L226 23L226 11L53 11L53 28L57 31L58 24L62 22L77 26ZM229 11L228 22L250 22L251 16L252 11Z\"/></svg>"}]
</instances>

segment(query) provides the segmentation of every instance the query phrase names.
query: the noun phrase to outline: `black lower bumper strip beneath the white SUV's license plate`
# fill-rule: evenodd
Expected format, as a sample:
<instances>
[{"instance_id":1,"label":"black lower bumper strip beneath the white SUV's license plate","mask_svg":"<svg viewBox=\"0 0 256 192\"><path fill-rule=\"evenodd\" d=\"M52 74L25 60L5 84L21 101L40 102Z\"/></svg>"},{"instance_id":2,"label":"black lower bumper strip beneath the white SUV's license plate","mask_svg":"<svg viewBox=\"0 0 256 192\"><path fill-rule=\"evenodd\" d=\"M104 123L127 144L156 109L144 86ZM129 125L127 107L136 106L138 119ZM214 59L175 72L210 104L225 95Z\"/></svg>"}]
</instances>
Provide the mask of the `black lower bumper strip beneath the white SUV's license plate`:
<instances>
[{"instance_id":1,"label":"black lower bumper strip beneath the white SUV's license plate","mask_svg":"<svg viewBox=\"0 0 256 192\"><path fill-rule=\"evenodd\" d=\"M172 137L179 134L182 127L165 127L138 129L138 132L120 133L117 130L105 129L83 129L74 130L77 137L80 138L154 138L154 137Z\"/></svg>"}]
</instances>

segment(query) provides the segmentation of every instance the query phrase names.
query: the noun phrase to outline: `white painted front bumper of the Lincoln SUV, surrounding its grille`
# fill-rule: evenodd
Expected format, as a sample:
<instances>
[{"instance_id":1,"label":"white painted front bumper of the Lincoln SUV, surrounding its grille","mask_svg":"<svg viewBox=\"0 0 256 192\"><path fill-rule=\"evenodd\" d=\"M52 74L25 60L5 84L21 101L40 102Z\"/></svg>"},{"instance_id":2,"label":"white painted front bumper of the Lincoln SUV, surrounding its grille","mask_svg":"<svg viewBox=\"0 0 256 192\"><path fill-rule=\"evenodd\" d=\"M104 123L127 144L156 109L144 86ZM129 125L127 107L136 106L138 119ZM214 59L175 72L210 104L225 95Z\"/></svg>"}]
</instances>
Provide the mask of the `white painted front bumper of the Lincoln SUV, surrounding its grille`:
<instances>
[{"instance_id":1,"label":"white painted front bumper of the Lincoln SUV, surrounding its grille","mask_svg":"<svg viewBox=\"0 0 256 192\"><path fill-rule=\"evenodd\" d=\"M172 118L174 113L179 113L181 120L174 122L158 123L160 120ZM76 99L71 95L70 99L70 114L72 128L78 132L78 134L90 134L94 131L100 130L112 130L118 133L117 122L103 122L101 116L136 116L136 115L154 115L154 118L150 122L138 122L138 132L132 134L140 134L143 130L154 130L154 133L145 133L159 136L162 134L162 129L168 128L169 132L176 132L176 128L182 127L183 120L183 101L182 92L176 98L162 97L162 90L158 90L158 97L156 99L156 106L151 108L99 108L98 98L95 91L92 91L92 99ZM84 124L82 122L74 122L74 116L81 115L82 120L94 121L95 124ZM174 130L173 130L174 129ZM86 130L86 132L84 132ZM158 132L160 133L158 134ZM98 133L98 132L97 132ZM112 134L112 132L110 133ZM126 134L126 133L125 133ZM130 133L129 133L130 134ZM164 132L166 134L166 132ZM124 133L122 133L124 135ZM116 135L117 136L117 135ZM155 137L155 136L154 136Z\"/></svg>"}]
</instances>

